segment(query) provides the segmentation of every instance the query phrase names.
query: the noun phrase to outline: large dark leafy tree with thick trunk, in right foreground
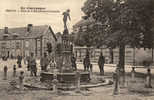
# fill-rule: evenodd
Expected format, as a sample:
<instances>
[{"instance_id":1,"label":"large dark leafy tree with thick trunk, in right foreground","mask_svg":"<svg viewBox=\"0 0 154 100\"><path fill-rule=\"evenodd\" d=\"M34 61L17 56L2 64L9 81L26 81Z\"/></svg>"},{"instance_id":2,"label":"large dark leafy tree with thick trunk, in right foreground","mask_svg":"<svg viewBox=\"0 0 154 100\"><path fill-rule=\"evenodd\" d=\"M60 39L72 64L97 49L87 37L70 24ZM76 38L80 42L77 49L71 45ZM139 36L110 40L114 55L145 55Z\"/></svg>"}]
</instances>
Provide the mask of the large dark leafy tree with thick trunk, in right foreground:
<instances>
[{"instance_id":1,"label":"large dark leafy tree with thick trunk, in right foreground","mask_svg":"<svg viewBox=\"0 0 154 100\"><path fill-rule=\"evenodd\" d=\"M123 74L126 45L152 47L153 5L154 0L87 0L82 8L84 18L92 17L96 23L102 24L101 32L93 28L88 33L93 36L92 44L119 47L119 66Z\"/></svg>"}]
</instances>

